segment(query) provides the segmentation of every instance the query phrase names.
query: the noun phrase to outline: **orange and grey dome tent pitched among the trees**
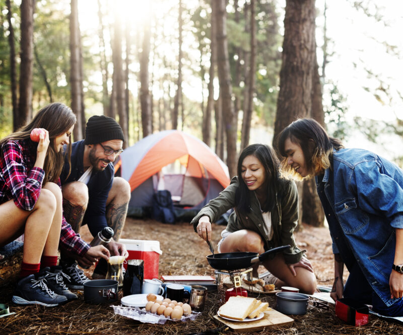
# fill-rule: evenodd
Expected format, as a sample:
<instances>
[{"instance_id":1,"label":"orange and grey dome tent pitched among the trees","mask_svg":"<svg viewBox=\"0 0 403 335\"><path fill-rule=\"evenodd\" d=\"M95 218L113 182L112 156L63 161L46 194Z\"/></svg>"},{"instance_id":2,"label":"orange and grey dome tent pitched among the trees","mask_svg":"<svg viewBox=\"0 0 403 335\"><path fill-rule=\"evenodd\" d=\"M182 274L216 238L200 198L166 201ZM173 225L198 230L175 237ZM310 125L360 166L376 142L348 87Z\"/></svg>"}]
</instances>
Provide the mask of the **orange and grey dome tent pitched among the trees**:
<instances>
[{"instance_id":1,"label":"orange and grey dome tent pitched among the trees","mask_svg":"<svg viewBox=\"0 0 403 335\"><path fill-rule=\"evenodd\" d=\"M224 162L203 141L180 130L160 131L126 148L115 172L130 184L127 214L135 217L150 217L153 195L168 190L176 219L191 219L230 184Z\"/></svg>"}]
</instances>

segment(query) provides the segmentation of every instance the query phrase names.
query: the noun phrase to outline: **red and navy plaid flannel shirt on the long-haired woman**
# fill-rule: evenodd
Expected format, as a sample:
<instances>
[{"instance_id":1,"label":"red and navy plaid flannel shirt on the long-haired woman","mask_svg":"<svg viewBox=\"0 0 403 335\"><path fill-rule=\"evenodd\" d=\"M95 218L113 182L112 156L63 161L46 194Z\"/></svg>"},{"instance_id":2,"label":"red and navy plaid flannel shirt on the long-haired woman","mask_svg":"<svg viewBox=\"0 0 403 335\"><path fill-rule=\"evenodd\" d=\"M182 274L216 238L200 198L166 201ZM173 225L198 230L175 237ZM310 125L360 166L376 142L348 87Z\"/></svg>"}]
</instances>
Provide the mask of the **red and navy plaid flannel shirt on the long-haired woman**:
<instances>
[{"instance_id":1,"label":"red and navy plaid flannel shirt on the long-haired woman","mask_svg":"<svg viewBox=\"0 0 403 335\"><path fill-rule=\"evenodd\" d=\"M28 141L12 140L5 143L0 155L0 204L13 199L14 204L25 211L32 211L41 192L45 171L34 167L36 150ZM60 186L60 179L57 180ZM90 246L76 234L62 217L60 242L64 248L84 255Z\"/></svg>"}]
</instances>

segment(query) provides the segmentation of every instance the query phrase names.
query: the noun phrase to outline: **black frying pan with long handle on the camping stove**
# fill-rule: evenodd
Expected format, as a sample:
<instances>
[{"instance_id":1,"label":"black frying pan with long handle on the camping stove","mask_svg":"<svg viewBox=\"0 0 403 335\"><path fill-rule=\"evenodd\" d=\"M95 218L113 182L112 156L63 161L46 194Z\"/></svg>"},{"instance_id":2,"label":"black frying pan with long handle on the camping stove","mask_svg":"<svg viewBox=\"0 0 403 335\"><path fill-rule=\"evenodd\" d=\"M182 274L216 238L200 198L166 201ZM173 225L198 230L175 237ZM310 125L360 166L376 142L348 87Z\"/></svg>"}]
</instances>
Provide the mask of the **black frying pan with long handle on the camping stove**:
<instances>
[{"instance_id":1,"label":"black frying pan with long handle on the camping stove","mask_svg":"<svg viewBox=\"0 0 403 335\"><path fill-rule=\"evenodd\" d=\"M288 249L290 245L283 245L277 248L273 248L258 254L257 252L223 252L215 253L207 256L207 260L213 269L216 270L239 270L250 267L257 261L263 261L267 259L268 255L276 252Z\"/></svg>"}]
</instances>

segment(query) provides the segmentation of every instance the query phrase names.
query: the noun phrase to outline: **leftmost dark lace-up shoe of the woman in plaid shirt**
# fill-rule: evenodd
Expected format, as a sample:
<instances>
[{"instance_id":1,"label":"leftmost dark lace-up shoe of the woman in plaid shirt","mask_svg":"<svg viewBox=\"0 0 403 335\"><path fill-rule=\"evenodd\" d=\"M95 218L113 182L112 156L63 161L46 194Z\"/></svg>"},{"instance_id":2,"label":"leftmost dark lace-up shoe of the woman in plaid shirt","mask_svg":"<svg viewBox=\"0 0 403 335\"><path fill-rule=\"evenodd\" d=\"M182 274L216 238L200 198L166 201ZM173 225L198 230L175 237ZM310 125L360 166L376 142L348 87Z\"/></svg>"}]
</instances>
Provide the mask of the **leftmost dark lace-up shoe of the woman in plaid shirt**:
<instances>
[{"instance_id":1,"label":"leftmost dark lace-up shoe of the woman in plaid shirt","mask_svg":"<svg viewBox=\"0 0 403 335\"><path fill-rule=\"evenodd\" d=\"M17 283L12 301L18 305L57 306L67 302L67 298L49 289L45 279L29 275Z\"/></svg>"}]
</instances>

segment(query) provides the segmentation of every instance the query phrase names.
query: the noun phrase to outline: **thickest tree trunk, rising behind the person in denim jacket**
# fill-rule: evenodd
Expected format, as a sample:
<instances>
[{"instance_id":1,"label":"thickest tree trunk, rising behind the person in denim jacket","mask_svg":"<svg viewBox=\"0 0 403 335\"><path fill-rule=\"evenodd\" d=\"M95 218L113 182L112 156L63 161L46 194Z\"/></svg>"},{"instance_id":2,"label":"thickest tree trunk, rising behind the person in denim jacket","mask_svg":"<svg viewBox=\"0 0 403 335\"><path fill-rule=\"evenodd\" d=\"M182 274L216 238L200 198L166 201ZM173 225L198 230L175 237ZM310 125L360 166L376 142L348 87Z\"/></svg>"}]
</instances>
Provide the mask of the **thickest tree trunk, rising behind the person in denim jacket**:
<instances>
[{"instance_id":1,"label":"thickest tree trunk, rising behind the person in denim jacket","mask_svg":"<svg viewBox=\"0 0 403 335\"><path fill-rule=\"evenodd\" d=\"M287 0L284 19L283 63L273 144L281 130L299 117L310 116L313 63L315 57L315 1ZM301 208L303 185L298 183ZM310 210L310 209L309 209ZM299 213L302 221L303 210Z\"/></svg>"}]
</instances>

